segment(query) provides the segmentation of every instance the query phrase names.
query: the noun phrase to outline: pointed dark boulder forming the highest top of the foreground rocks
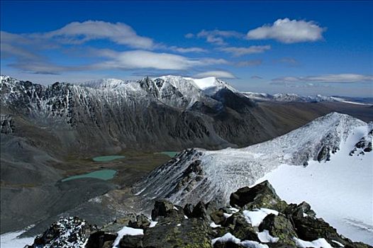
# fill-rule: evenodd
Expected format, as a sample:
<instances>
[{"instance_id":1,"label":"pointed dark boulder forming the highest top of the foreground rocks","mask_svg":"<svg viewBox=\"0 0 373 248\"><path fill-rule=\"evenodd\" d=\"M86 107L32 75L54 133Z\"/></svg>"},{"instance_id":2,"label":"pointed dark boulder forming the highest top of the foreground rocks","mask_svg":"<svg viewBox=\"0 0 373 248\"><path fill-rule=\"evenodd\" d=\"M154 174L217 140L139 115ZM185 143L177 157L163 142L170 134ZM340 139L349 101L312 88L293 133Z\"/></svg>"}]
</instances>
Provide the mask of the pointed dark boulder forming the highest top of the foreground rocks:
<instances>
[{"instance_id":1,"label":"pointed dark boulder forming the highest top of the foreground rocks","mask_svg":"<svg viewBox=\"0 0 373 248\"><path fill-rule=\"evenodd\" d=\"M281 201L269 182L263 181L253 187L243 187L230 194L230 205L239 208L272 208L277 209Z\"/></svg>"}]
</instances>

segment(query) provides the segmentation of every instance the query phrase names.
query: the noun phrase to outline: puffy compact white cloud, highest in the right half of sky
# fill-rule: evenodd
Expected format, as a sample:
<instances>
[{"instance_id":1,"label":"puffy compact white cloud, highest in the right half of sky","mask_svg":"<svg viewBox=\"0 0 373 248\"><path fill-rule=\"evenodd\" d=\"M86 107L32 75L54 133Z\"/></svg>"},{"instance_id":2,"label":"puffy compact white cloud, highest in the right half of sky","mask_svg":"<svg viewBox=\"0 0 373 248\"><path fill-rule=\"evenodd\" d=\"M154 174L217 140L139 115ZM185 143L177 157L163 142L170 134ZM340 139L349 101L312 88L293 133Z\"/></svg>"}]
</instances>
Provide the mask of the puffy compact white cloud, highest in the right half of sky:
<instances>
[{"instance_id":1,"label":"puffy compact white cloud, highest in the right half of sky","mask_svg":"<svg viewBox=\"0 0 373 248\"><path fill-rule=\"evenodd\" d=\"M289 18L278 19L272 25L264 25L247 33L249 40L274 39L282 43L300 43L323 38L323 31L313 21L296 21Z\"/></svg>"}]
</instances>

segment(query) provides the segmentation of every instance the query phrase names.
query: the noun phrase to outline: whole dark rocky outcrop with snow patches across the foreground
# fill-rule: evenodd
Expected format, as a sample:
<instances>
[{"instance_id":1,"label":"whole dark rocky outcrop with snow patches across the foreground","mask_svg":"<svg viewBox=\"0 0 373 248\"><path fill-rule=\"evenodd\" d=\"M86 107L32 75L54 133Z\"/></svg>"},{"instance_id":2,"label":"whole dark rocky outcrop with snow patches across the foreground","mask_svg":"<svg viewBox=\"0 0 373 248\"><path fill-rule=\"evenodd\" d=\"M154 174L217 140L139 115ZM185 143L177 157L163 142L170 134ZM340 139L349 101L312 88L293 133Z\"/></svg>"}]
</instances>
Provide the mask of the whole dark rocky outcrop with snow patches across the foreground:
<instances>
[{"instance_id":1,"label":"whole dark rocky outcrop with snow patches across the foreground","mask_svg":"<svg viewBox=\"0 0 373 248\"><path fill-rule=\"evenodd\" d=\"M182 208L160 200L155 201L152 220L145 215L128 215L101 230L84 220L65 218L37 237L32 247L85 244L86 248L106 248L118 244L121 248L265 248L304 247L302 242L315 240L329 247L370 247L339 235L323 219L316 218L308 203L282 201L268 181L235 191L230 205L235 208L217 209L213 203L200 202L191 209L191 205Z\"/></svg>"}]
</instances>

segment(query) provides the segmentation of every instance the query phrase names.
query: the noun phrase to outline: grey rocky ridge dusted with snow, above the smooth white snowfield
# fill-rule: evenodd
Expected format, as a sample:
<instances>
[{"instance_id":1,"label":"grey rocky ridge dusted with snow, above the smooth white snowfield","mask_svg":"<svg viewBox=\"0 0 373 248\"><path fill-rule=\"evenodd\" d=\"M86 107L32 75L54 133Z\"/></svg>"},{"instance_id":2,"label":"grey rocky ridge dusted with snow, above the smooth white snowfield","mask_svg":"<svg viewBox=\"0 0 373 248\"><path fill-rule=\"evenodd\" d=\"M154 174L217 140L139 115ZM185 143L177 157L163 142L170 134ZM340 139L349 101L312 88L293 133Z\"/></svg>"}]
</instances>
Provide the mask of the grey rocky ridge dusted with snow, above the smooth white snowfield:
<instances>
[{"instance_id":1,"label":"grey rocky ridge dusted with snow, above the smooth white snowfield","mask_svg":"<svg viewBox=\"0 0 373 248\"><path fill-rule=\"evenodd\" d=\"M371 125L349 115L330 113L286 135L250 147L187 150L150 174L138 185L138 191L180 204L211 201L216 196L228 201L231 192L254 184L281 164L306 166L310 161L330 160L360 127L367 134Z\"/></svg>"}]
</instances>

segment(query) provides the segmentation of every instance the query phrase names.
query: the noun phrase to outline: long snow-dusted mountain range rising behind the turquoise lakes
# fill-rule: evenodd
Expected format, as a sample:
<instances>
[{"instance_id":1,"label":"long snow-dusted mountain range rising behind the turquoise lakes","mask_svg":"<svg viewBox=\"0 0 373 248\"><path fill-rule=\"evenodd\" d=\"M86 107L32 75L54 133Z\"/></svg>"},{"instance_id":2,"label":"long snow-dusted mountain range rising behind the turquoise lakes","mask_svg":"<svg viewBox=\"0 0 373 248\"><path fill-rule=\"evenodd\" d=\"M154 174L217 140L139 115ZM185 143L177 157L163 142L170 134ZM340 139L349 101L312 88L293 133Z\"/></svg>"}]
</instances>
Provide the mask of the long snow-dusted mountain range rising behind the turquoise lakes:
<instances>
[{"instance_id":1,"label":"long snow-dusted mountain range rising behind the turquoise lakes","mask_svg":"<svg viewBox=\"0 0 373 248\"><path fill-rule=\"evenodd\" d=\"M52 132L66 149L80 152L93 152L92 147L115 152L128 145L177 150L236 147L268 140L291 128L213 77L102 79L44 86L1 76L0 90L3 119L11 120L14 130L21 130L24 123L35 125L43 133ZM26 121L17 123L17 116Z\"/></svg>"}]
</instances>

